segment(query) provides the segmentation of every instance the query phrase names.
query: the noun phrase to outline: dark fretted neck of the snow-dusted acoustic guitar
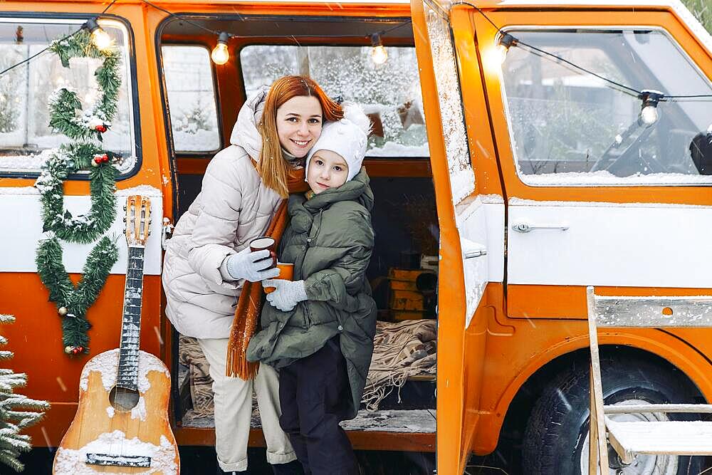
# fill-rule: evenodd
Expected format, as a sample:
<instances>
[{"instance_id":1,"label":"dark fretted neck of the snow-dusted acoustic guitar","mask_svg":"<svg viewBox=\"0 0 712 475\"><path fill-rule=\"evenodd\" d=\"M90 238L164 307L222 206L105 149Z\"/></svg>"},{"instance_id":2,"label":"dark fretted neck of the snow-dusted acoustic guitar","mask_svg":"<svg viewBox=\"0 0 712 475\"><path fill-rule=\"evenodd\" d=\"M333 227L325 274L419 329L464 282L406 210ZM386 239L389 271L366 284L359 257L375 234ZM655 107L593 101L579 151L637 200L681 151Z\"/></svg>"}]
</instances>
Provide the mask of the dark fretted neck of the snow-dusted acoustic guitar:
<instances>
[{"instance_id":1,"label":"dark fretted neck of the snow-dusted acoustic guitar","mask_svg":"<svg viewBox=\"0 0 712 475\"><path fill-rule=\"evenodd\" d=\"M128 247L117 387L137 390L143 296L143 246Z\"/></svg>"}]
</instances>

